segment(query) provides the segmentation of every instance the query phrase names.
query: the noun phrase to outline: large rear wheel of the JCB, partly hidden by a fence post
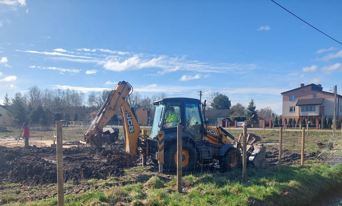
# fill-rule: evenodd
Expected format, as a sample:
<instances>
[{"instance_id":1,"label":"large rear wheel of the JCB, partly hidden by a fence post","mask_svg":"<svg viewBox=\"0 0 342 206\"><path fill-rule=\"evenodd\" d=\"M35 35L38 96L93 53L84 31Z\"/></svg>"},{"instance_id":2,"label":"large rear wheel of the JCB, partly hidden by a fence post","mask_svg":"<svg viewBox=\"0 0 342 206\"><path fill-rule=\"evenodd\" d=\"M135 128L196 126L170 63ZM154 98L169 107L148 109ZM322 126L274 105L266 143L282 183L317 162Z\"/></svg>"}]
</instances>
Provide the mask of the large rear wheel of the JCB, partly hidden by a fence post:
<instances>
[{"instance_id":1,"label":"large rear wheel of the JCB, partly hidden by a fence post","mask_svg":"<svg viewBox=\"0 0 342 206\"><path fill-rule=\"evenodd\" d=\"M185 153L183 154L183 161L184 165L182 166L183 172L193 171L195 168L197 156L196 156L196 148L194 145L189 143L189 141L183 141L182 151ZM164 170L172 171L177 169L177 164L175 161L177 154L177 145L176 142L171 143L171 147L167 147L164 152ZM187 160L186 160L187 156ZM185 164L186 163L186 164Z\"/></svg>"}]
</instances>

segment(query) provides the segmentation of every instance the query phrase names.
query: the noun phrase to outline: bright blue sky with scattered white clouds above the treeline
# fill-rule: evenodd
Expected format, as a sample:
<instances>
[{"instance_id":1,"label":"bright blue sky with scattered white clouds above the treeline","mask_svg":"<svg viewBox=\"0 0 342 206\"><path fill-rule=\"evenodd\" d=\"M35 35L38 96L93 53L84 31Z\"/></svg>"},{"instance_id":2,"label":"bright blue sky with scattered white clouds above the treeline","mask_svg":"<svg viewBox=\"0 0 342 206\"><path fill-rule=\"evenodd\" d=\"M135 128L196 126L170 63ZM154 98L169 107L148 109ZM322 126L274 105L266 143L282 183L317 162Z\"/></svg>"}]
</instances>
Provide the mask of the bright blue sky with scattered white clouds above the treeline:
<instances>
[{"instance_id":1,"label":"bright blue sky with scattered white clouds above the treeline","mask_svg":"<svg viewBox=\"0 0 342 206\"><path fill-rule=\"evenodd\" d=\"M277 2L342 41L341 1ZM281 114L280 93L300 83L339 89L341 61L341 44L267 0L0 0L0 103L35 84L87 94L124 80Z\"/></svg>"}]
</instances>

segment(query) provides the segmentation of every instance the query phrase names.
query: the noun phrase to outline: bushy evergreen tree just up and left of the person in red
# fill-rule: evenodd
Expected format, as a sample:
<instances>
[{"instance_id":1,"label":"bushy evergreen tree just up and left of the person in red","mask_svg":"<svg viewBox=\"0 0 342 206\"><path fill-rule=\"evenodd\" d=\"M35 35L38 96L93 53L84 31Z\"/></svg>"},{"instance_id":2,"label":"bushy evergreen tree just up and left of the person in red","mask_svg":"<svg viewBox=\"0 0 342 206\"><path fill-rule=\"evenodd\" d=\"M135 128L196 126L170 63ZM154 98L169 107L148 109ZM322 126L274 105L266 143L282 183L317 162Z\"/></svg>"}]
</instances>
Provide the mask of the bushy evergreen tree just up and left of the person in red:
<instances>
[{"instance_id":1,"label":"bushy evergreen tree just up and left of the person in red","mask_svg":"<svg viewBox=\"0 0 342 206\"><path fill-rule=\"evenodd\" d=\"M15 93L14 98L12 98L12 107L9 108L9 113L15 124L22 125L24 122L27 122L24 97L20 92Z\"/></svg>"}]
</instances>

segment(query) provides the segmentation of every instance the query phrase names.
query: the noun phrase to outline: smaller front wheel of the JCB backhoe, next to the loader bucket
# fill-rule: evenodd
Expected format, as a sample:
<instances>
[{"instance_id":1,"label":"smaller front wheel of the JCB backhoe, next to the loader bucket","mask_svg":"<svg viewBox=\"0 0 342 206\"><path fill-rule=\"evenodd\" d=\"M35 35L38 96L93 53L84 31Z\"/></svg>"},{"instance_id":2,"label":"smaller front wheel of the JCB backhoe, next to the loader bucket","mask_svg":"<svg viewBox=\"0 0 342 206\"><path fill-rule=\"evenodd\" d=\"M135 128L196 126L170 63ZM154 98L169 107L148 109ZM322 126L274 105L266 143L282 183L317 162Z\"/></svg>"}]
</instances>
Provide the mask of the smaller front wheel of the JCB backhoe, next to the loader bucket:
<instances>
[{"instance_id":1,"label":"smaller front wheel of the JCB backhoe, next to the loader bucket","mask_svg":"<svg viewBox=\"0 0 342 206\"><path fill-rule=\"evenodd\" d=\"M222 170L239 169L242 166L241 152L236 148L230 148L223 156L222 159Z\"/></svg>"}]
</instances>

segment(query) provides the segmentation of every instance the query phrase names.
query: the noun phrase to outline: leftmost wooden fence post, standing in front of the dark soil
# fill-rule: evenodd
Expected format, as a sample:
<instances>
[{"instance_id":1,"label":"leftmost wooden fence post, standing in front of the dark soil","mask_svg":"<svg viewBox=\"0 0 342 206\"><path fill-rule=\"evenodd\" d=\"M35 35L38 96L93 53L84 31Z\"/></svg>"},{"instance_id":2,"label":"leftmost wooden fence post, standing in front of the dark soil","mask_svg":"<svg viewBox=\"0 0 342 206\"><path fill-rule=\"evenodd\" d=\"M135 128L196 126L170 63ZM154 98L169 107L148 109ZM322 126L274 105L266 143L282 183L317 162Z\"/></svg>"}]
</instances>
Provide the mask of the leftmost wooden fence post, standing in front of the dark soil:
<instances>
[{"instance_id":1,"label":"leftmost wooden fence post, standing in front of the dark soil","mask_svg":"<svg viewBox=\"0 0 342 206\"><path fill-rule=\"evenodd\" d=\"M56 121L56 137L57 137L57 195L58 206L64 204L64 177L63 177L63 134L62 121Z\"/></svg>"}]
</instances>

